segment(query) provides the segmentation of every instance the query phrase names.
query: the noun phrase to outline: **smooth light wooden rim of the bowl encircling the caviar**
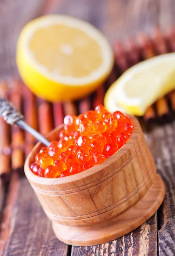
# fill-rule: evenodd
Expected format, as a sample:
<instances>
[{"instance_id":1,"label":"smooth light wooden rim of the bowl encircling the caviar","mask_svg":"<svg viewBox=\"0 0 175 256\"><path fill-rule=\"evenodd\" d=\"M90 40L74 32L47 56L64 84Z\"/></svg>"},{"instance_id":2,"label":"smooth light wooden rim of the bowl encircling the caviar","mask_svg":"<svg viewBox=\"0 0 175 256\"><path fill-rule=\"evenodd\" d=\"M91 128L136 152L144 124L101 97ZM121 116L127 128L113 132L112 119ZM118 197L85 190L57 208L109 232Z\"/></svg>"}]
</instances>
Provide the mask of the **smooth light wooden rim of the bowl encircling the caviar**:
<instances>
[{"instance_id":1,"label":"smooth light wooden rim of the bowl encircling the caviar","mask_svg":"<svg viewBox=\"0 0 175 256\"><path fill-rule=\"evenodd\" d=\"M113 154L111 157L109 157L107 160L105 160L103 163L100 163L96 166L93 166L92 168L85 170L83 172L80 172L78 174L74 174L74 175L70 175L67 177L62 177L62 178L45 178L45 177L39 177L37 175L35 175L31 169L30 169L30 164L34 162L34 157L35 154L37 154L37 152L40 151L40 148L42 148L44 145L41 142L38 142L34 148L31 150L31 152L28 154L28 157L25 160L25 165L24 165L24 171L25 171L25 175L28 178L28 180L34 182L34 183L38 183L38 184L43 184L43 185L59 185L59 184L66 184L66 183L71 183L71 182L76 182L77 180L85 180L86 177L89 177L91 175L94 175L98 172L101 172L102 174L102 170L104 169L104 167L106 166L110 166L112 164L114 164L116 162L116 160L118 160L122 155L126 154L127 151L130 150L130 148L132 147L133 143L135 143L135 141L137 140L138 134L141 131L141 129L139 128L139 123L138 120L134 117L134 116L130 116L130 118L133 120L134 123L134 130L133 133L130 136L129 141L132 143L126 143L124 144L119 151L117 151L115 154ZM47 136L46 138L49 139L49 137L58 132L59 130L61 130L63 128L63 124L59 125L57 128L55 128L54 130L52 130ZM139 150L139 148L138 148ZM133 154L135 155L137 152L134 152ZM130 160L131 158L133 158L134 156L131 155L129 157L128 160ZM124 163L123 163L124 165ZM122 165L122 166L123 166ZM122 167L121 166L121 167ZM107 175L102 175L101 178L105 178L105 176ZM100 179L101 179L100 178ZM88 180L88 179L87 179ZM99 180L100 183L100 180ZM85 184L85 186L88 184ZM94 184L95 185L95 184Z\"/></svg>"}]
</instances>

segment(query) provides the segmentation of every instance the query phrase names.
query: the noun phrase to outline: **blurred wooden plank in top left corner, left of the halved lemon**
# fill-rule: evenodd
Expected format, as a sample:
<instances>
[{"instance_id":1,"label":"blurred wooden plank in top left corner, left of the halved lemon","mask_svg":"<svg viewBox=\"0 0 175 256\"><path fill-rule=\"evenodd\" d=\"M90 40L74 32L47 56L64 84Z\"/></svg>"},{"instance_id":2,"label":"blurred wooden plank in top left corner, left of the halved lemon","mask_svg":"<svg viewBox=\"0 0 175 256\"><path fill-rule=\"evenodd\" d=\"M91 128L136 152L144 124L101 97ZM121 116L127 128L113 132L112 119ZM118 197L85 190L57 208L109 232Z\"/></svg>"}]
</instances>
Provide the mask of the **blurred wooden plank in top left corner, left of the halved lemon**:
<instances>
[{"instance_id":1,"label":"blurred wooden plank in top left corner, left of the halved lemon","mask_svg":"<svg viewBox=\"0 0 175 256\"><path fill-rule=\"evenodd\" d=\"M21 29L37 16L43 0L0 3L0 76L17 75L16 45Z\"/></svg>"}]
</instances>

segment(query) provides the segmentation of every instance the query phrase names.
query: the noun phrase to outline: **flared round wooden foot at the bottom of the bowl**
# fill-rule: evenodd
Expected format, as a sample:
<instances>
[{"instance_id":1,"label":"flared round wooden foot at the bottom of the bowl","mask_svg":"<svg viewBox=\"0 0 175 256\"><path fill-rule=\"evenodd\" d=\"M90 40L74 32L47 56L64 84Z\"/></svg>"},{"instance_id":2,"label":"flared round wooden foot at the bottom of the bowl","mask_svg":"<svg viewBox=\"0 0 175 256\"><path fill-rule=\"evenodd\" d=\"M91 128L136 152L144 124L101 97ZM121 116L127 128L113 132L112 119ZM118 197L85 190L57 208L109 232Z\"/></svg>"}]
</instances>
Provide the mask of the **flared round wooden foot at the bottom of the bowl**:
<instances>
[{"instance_id":1,"label":"flared round wooden foot at the bottom of the bowl","mask_svg":"<svg viewBox=\"0 0 175 256\"><path fill-rule=\"evenodd\" d=\"M71 245L88 246L106 243L130 233L147 221L160 207L165 185L157 174L147 193L136 204L120 215L93 226L66 226L52 222L55 236Z\"/></svg>"}]
</instances>

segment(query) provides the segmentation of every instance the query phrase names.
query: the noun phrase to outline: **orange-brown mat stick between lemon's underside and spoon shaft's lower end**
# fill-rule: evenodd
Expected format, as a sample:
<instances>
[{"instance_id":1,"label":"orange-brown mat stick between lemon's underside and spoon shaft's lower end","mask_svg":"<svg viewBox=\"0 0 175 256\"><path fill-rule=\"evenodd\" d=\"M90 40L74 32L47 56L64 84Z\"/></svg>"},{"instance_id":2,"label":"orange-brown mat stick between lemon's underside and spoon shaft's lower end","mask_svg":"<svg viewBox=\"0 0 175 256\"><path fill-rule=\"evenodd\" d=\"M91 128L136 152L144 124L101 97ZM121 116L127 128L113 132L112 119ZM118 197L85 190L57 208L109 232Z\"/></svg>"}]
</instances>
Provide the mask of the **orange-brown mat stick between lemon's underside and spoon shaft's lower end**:
<instances>
[{"instance_id":1,"label":"orange-brown mat stick between lemon's underside and spoon shaft's lower end","mask_svg":"<svg viewBox=\"0 0 175 256\"><path fill-rule=\"evenodd\" d=\"M40 134L46 135L53 129L51 105L42 101L38 108L38 121Z\"/></svg>"}]
</instances>

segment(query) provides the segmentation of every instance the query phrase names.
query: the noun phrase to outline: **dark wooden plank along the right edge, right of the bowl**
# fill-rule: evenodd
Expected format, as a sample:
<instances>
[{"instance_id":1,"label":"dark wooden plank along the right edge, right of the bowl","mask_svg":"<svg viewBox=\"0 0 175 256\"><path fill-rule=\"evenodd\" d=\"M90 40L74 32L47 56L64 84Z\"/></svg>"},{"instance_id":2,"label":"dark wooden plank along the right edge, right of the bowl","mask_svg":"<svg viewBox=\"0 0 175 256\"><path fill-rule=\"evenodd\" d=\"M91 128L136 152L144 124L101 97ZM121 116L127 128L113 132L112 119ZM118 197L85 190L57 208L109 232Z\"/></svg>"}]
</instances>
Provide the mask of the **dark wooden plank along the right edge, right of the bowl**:
<instances>
[{"instance_id":1,"label":"dark wooden plank along the right edge, right of the bowl","mask_svg":"<svg viewBox=\"0 0 175 256\"><path fill-rule=\"evenodd\" d=\"M166 197L158 211L158 250L161 256L175 255L175 122L147 134L147 142L166 185Z\"/></svg>"}]
</instances>

